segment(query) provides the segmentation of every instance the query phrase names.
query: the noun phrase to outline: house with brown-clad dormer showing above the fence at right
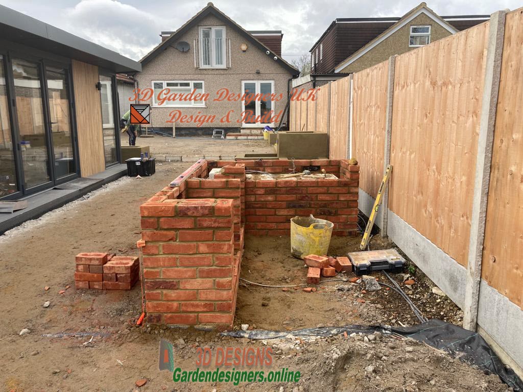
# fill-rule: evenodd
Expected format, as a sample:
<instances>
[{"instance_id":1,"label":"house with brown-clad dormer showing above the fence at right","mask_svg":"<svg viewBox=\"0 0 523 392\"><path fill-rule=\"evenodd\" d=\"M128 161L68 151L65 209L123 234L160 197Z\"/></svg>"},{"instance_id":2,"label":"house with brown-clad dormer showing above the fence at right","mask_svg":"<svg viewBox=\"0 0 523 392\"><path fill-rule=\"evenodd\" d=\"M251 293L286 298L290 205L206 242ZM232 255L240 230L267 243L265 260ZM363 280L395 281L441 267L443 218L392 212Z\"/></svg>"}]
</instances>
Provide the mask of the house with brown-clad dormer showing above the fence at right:
<instances>
[{"instance_id":1,"label":"house with brown-clad dormer showing above the fence at right","mask_svg":"<svg viewBox=\"0 0 523 392\"><path fill-rule=\"evenodd\" d=\"M439 16L425 3L402 17L338 18L310 50L311 80L361 71L488 19L490 15Z\"/></svg>"}]
</instances>

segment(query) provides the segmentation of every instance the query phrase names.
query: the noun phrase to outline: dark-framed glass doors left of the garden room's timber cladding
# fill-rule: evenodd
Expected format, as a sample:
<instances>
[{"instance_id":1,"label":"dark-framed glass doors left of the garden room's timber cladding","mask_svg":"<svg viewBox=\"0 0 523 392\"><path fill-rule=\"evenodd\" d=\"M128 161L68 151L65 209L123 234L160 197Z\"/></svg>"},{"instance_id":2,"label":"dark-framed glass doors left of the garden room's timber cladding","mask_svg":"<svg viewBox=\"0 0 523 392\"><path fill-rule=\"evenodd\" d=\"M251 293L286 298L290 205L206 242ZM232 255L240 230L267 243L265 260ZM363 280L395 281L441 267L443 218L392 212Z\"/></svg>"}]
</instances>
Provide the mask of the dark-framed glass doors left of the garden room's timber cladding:
<instances>
[{"instance_id":1,"label":"dark-framed glass doors left of the garden room's timber cladding","mask_svg":"<svg viewBox=\"0 0 523 392\"><path fill-rule=\"evenodd\" d=\"M78 174L66 64L0 53L0 199Z\"/></svg>"}]
</instances>

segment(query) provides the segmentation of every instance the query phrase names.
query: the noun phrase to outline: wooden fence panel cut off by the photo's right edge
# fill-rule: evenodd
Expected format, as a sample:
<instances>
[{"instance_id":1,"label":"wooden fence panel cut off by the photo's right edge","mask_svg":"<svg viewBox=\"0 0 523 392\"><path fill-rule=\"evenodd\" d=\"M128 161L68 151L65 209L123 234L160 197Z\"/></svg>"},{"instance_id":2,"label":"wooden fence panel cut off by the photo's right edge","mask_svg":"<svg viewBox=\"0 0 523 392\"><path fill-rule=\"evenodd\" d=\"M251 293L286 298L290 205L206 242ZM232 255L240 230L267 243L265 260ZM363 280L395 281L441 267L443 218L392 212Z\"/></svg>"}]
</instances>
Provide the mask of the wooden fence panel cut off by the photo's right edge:
<instances>
[{"instance_id":1,"label":"wooden fence panel cut off by the photo's right edge","mask_svg":"<svg viewBox=\"0 0 523 392\"><path fill-rule=\"evenodd\" d=\"M507 14L482 278L523 305L523 10Z\"/></svg>"}]
</instances>

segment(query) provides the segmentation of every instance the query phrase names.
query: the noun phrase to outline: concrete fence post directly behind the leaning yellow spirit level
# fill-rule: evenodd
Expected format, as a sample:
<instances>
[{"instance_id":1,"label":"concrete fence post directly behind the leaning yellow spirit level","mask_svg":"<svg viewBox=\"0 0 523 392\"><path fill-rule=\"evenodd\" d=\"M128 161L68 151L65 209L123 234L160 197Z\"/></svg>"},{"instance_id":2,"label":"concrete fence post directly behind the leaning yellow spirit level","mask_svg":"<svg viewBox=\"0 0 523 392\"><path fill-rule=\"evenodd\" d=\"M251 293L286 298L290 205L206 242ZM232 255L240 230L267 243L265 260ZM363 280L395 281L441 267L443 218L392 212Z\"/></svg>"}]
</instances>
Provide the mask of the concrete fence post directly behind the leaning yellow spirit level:
<instances>
[{"instance_id":1,"label":"concrete fence post directly behind the leaning yellow spirit level","mask_svg":"<svg viewBox=\"0 0 523 392\"><path fill-rule=\"evenodd\" d=\"M386 106L386 117L385 117L385 153L383 155L383 172L385 172L387 166L391 163L391 135L392 135L392 103L394 100L394 71L396 67L396 57L393 55L389 57L389 72L388 72L388 83L387 83L387 106ZM394 170L392 175L394 175ZM389 216L389 186L385 187L383 191L383 202L381 204L381 222L380 222L380 235L382 238L387 237L387 220Z\"/></svg>"}]
</instances>

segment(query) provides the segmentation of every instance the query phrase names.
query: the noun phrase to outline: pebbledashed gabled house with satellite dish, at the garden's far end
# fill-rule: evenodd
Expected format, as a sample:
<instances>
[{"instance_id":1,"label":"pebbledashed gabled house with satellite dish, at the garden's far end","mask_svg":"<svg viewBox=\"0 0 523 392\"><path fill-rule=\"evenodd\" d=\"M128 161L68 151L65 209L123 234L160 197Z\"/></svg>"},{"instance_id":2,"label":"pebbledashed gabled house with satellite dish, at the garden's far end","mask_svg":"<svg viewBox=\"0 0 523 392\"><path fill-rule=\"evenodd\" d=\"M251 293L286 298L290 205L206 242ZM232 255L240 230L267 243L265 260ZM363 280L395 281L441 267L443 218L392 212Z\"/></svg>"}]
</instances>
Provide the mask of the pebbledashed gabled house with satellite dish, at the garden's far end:
<instances>
[{"instance_id":1,"label":"pebbledashed gabled house with satellite dish, at the garden's far end","mask_svg":"<svg viewBox=\"0 0 523 392\"><path fill-rule=\"evenodd\" d=\"M230 133L286 121L290 81L299 71L281 57L281 31L246 31L209 3L178 30L160 35L136 76L140 98L151 104L153 129ZM246 101L244 94L263 97Z\"/></svg>"}]
</instances>

